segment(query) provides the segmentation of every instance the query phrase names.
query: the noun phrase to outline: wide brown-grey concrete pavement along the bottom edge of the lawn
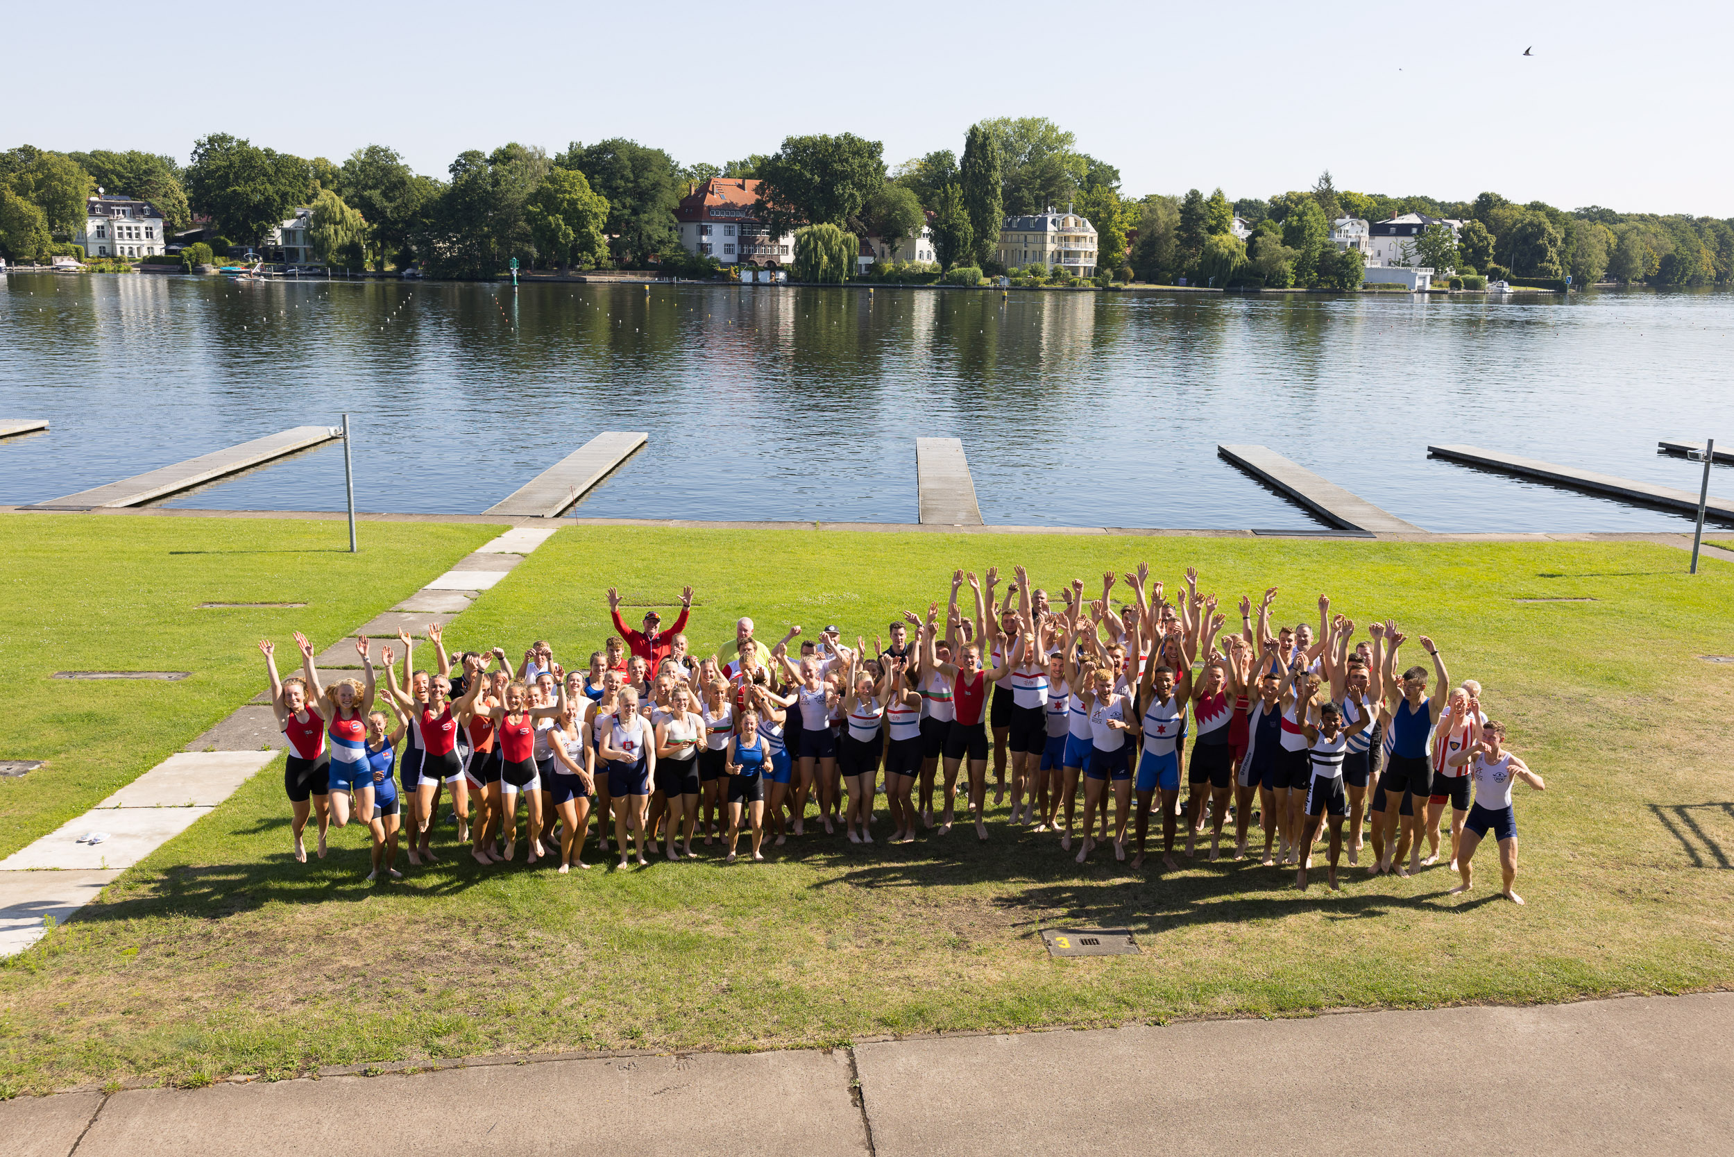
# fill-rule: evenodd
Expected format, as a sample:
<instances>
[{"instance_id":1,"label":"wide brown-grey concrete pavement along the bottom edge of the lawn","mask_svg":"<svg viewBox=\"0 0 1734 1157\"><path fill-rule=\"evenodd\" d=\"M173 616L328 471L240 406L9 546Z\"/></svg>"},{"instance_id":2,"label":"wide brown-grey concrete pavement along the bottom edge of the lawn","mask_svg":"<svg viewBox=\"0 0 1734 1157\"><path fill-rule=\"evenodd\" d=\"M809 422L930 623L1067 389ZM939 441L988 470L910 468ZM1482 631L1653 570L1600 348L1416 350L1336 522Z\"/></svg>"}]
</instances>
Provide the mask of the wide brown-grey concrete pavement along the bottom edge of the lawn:
<instances>
[{"instance_id":1,"label":"wide brown-grey concrete pavement along the bottom edge of the lawn","mask_svg":"<svg viewBox=\"0 0 1734 1157\"><path fill-rule=\"evenodd\" d=\"M1734 994L472 1062L0 1103L14 1157L1718 1154Z\"/></svg>"}]
</instances>

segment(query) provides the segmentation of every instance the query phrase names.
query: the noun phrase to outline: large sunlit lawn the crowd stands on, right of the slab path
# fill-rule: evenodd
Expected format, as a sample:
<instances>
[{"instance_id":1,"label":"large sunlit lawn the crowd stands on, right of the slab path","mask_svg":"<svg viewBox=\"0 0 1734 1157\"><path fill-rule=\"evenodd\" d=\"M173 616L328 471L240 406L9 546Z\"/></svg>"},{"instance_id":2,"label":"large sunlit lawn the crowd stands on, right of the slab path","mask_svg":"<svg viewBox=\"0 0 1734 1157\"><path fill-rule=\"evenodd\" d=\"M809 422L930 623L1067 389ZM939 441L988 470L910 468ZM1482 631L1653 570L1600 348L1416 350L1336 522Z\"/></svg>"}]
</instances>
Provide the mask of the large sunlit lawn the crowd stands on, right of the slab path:
<instances>
[{"instance_id":1,"label":"large sunlit lawn the crowd stands on, right of the slab path","mask_svg":"<svg viewBox=\"0 0 1734 1157\"><path fill-rule=\"evenodd\" d=\"M1351 871L1340 895L1300 895L1255 862L1139 874L1098 852L1079 867L1054 838L1007 831L1004 808L987 847L968 826L896 848L810 834L766 866L570 876L447 855L371 888L355 827L324 862L290 859L267 768L0 968L0 1089L1734 982L1734 668L1698 659L1734 650L1729 564L1691 578L1682 552L1644 543L565 529L449 638L510 654L546 637L583 661L609 630L607 585L673 602L683 581L706 650L740 614L772 638L791 621L870 635L943 597L957 564L1025 562L1058 586L1141 559L1170 585L1193 564L1224 597L1276 583L1288 619L1316 618L1325 590L1363 624L1392 616L1432 635L1547 777L1545 793L1517 789L1529 905L1490 899L1491 847L1469 899L1444 895L1443 866L1411 881ZM42 694L26 683L26 706ZM1039 928L1066 923L1131 926L1143 954L1049 959Z\"/></svg>"}]
</instances>

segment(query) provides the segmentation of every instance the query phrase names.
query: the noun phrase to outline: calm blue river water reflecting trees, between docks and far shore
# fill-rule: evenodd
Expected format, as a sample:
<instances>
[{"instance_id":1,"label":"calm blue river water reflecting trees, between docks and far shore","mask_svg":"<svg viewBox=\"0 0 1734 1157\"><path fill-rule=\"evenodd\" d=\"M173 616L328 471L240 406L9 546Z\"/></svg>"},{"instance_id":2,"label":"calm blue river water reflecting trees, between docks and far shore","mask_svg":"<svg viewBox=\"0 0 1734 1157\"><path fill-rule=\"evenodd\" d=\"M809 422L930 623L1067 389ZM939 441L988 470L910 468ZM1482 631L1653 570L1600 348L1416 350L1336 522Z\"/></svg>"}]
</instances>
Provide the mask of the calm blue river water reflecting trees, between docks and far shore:
<instances>
[{"instance_id":1,"label":"calm blue river water reflecting trees, between docks and far shore","mask_svg":"<svg viewBox=\"0 0 1734 1157\"><path fill-rule=\"evenodd\" d=\"M1685 519L1431 461L1470 442L1694 489L1734 442L1734 295L1561 302L770 286L0 278L0 503L355 423L362 510L480 512L598 430L650 444L591 517L916 520L917 435L990 524L1304 527L1216 456L1262 442L1436 531ZM1718 468L1711 491L1734 486ZM342 510L338 444L168 505Z\"/></svg>"}]
</instances>

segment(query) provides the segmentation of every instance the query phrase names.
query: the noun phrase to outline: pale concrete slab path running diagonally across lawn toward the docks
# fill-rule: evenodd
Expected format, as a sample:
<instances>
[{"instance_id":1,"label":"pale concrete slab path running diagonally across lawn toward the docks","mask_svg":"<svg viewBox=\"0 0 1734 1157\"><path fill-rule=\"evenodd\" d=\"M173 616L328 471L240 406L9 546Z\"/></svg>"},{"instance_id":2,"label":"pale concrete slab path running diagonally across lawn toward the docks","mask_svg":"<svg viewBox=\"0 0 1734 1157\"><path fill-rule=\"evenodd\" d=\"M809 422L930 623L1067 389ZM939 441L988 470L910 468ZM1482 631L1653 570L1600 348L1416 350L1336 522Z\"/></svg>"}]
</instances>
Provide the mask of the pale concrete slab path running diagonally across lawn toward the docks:
<instances>
[{"instance_id":1,"label":"pale concrete slab path running diagonally across lawn toward the docks","mask_svg":"<svg viewBox=\"0 0 1734 1157\"><path fill-rule=\"evenodd\" d=\"M420 635L430 619L446 623L558 529L513 527L357 630L395 635L402 619L414 623L411 630ZM454 583L454 576L460 581ZM428 600L449 607L449 612L418 614ZM331 668L359 666L355 637L340 638L317 661ZM210 815L283 746L269 703L236 708L222 723L189 742L184 753L168 756L95 808L0 860L0 958L28 949L43 937L50 918L57 925L66 923L123 869ZM88 843L85 838L90 833L102 833L104 838ZM0 1147L0 1154L5 1152Z\"/></svg>"}]
</instances>

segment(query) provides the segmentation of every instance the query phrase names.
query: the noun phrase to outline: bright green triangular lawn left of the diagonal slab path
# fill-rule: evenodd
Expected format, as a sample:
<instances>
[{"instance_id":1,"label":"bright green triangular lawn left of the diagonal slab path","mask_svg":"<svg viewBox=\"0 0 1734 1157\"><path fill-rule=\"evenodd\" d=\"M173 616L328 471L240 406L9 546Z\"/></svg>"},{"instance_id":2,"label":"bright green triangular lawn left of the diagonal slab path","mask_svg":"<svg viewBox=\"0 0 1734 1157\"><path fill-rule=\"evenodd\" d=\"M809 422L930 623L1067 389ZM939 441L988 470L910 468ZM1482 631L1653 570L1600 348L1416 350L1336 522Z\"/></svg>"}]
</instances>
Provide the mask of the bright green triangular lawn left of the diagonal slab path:
<instances>
[{"instance_id":1,"label":"bright green triangular lawn left of the diagonal slab path","mask_svg":"<svg viewBox=\"0 0 1734 1157\"><path fill-rule=\"evenodd\" d=\"M319 649L406 598L492 526L378 522L349 553L342 522L10 515L0 519L0 857L83 814L284 671L290 631ZM201 602L305 602L199 611ZM191 671L179 682L68 682L55 671Z\"/></svg>"}]
</instances>

